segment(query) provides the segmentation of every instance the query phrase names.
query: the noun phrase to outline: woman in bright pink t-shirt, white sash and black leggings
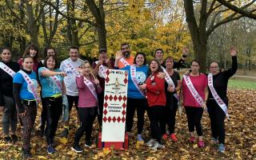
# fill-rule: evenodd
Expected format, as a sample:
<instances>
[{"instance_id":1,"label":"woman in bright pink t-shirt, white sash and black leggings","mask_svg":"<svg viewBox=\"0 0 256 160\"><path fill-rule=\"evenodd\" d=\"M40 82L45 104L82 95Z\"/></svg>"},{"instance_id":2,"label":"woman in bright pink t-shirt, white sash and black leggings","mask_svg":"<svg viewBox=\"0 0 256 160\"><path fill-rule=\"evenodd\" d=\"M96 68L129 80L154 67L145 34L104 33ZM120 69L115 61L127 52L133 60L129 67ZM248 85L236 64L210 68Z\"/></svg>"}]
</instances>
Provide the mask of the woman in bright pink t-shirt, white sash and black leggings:
<instances>
[{"instance_id":1,"label":"woman in bright pink t-shirt, white sash and black leggings","mask_svg":"<svg viewBox=\"0 0 256 160\"><path fill-rule=\"evenodd\" d=\"M180 102L185 107L186 117L190 130L190 142L195 142L194 127L198 134L198 147L205 146L202 139L202 113L206 107L208 98L207 78L205 74L199 72L200 64L194 60L191 62L189 75L184 75L182 78L182 91Z\"/></svg>"}]
</instances>

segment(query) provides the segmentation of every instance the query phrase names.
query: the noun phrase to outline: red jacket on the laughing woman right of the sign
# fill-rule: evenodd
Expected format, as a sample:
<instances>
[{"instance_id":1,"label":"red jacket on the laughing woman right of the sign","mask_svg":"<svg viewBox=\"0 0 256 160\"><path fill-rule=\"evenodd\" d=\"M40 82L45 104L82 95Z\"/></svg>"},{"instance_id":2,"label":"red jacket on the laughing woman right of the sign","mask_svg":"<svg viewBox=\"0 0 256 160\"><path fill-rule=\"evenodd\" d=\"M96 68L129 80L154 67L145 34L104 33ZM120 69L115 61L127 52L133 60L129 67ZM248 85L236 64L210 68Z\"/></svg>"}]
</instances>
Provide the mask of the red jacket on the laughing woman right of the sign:
<instances>
[{"instance_id":1,"label":"red jacket on the laughing woman right of the sign","mask_svg":"<svg viewBox=\"0 0 256 160\"><path fill-rule=\"evenodd\" d=\"M146 79L146 97L149 106L166 106L165 79L157 74Z\"/></svg>"}]
</instances>

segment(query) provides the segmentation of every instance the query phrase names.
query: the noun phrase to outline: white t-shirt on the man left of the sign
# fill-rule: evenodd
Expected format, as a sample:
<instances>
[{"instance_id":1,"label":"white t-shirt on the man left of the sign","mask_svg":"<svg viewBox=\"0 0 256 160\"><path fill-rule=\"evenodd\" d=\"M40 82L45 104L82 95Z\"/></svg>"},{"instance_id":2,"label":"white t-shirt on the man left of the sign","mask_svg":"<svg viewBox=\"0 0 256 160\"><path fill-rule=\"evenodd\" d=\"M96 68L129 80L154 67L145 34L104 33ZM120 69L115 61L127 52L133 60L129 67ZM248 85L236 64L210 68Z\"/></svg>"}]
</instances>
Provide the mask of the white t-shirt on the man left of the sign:
<instances>
[{"instance_id":1,"label":"white t-shirt on the man left of the sign","mask_svg":"<svg viewBox=\"0 0 256 160\"><path fill-rule=\"evenodd\" d=\"M64 83L66 86L66 94L70 96L78 96L78 86L75 82L75 78L79 75L78 71L76 70L78 66L81 66L82 59L78 58L76 62L73 62L70 58L62 61L61 66L59 67L60 70L66 73L64 77Z\"/></svg>"}]
</instances>

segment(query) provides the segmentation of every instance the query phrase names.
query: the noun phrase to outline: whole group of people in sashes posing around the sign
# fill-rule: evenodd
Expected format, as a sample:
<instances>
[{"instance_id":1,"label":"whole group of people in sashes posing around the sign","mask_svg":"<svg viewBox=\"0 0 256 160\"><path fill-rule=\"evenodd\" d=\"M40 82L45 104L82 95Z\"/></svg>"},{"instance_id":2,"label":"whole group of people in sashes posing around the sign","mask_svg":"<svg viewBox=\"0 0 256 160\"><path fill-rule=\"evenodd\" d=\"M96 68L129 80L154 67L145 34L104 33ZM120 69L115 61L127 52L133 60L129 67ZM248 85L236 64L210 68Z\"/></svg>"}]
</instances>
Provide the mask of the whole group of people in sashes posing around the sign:
<instances>
[{"instance_id":1,"label":"whole group of people in sashes posing around the sign","mask_svg":"<svg viewBox=\"0 0 256 160\"><path fill-rule=\"evenodd\" d=\"M198 146L203 147L201 118L207 107L210 115L212 142L219 143L218 150L225 151L224 119L228 117L226 96L227 82L237 70L236 50L230 50L232 67L221 71L218 62L210 64L210 74L199 72L200 63L191 62L190 73L180 75L174 68L181 67L186 60L188 50L184 49L182 58L163 58L163 50L157 49L154 59L149 63L146 54L131 54L128 43L121 45L115 62L108 58L107 50L100 49L98 61L90 62L79 58L77 46L69 49L70 58L61 62L58 68L56 50L46 47L45 58L38 58L38 47L27 46L18 62L11 61L10 49L3 48L0 62L0 109L3 110L2 129L5 142L18 140L15 132L18 118L22 124L22 152L30 157L30 138L37 115L38 103L42 102L40 135L46 135L47 153L53 154L54 135L62 115L63 137L69 135L70 111L77 110L79 124L74 136L72 150L82 152L80 139L86 132L85 146L90 147L94 119L98 117L102 126L104 86L106 68L129 70L126 132L130 134L137 110L137 140L144 142L142 132L144 115L150 119L150 141L146 142L153 150L163 148L163 140L178 138L174 134L175 116L178 104L185 107L190 142L195 142L194 128L198 134ZM41 86L38 94L38 86ZM41 97L41 98L40 98ZM46 125L45 125L46 124ZM168 130L166 130L168 126ZM10 129L10 133L9 133Z\"/></svg>"}]
</instances>

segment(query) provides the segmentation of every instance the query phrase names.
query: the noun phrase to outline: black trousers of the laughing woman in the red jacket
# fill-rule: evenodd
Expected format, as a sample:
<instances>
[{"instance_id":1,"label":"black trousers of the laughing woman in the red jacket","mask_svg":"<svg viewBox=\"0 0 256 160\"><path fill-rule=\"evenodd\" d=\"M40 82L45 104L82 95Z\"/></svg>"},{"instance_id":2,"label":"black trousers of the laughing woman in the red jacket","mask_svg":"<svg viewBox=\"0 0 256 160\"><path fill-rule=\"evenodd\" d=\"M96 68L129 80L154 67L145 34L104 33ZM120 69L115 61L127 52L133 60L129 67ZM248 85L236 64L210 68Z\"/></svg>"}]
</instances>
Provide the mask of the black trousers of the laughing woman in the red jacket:
<instances>
[{"instance_id":1,"label":"black trousers of the laughing woman in the red jacket","mask_svg":"<svg viewBox=\"0 0 256 160\"><path fill-rule=\"evenodd\" d=\"M164 107L165 106L149 106L148 108L151 137L156 139L160 144L162 143L160 122L163 121Z\"/></svg>"}]
</instances>

